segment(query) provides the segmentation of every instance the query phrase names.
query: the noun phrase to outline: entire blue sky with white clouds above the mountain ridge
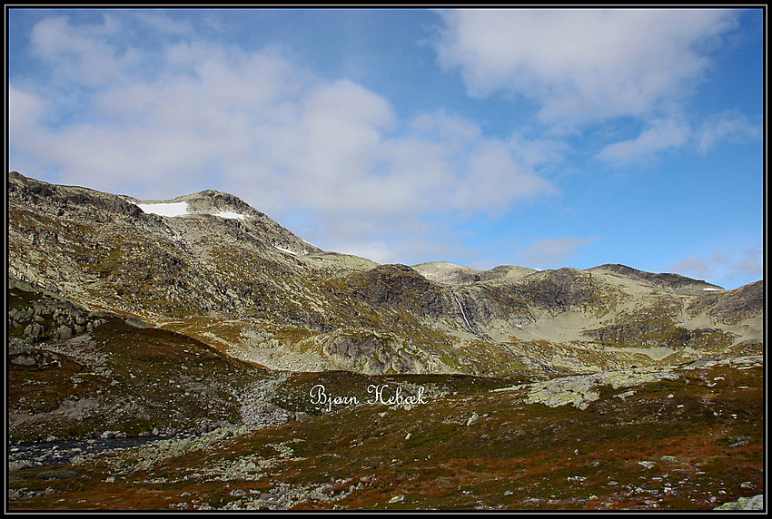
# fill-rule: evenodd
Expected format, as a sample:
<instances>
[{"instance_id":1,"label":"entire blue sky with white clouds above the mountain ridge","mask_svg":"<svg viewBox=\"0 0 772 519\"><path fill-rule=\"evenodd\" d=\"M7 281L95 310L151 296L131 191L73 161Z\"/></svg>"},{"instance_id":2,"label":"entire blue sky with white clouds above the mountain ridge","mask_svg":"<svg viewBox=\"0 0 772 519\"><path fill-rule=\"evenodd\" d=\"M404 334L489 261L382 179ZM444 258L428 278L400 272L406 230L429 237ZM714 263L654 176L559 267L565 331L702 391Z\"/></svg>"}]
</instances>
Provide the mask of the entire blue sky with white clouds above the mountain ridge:
<instances>
[{"instance_id":1,"label":"entire blue sky with white clouds above the mountain ridge","mask_svg":"<svg viewBox=\"0 0 772 519\"><path fill-rule=\"evenodd\" d=\"M6 9L8 167L324 250L763 278L764 13Z\"/></svg>"}]
</instances>

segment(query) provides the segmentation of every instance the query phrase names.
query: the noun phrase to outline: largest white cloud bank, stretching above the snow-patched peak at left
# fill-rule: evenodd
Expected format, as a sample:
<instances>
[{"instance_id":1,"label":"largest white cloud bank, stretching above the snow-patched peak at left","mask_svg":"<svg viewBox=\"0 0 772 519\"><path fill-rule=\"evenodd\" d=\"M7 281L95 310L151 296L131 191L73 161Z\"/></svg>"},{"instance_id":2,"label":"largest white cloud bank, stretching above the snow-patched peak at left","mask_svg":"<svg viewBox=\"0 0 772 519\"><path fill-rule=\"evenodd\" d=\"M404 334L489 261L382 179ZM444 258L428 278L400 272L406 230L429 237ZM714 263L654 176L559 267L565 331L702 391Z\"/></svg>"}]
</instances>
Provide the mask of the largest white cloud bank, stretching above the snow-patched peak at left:
<instances>
[{"instance_id":1,"label":"largest white cloud bank, stretching above the snow-patched peak at left","mask_svg":"<svg viewBox=\"0 0 772 519\"><path fill-rule=\"evenodd\" d=\"M533 171L543 158L523 158L527 140L488 138L477 123L441 111L401 121L381 94L314 76L275 50L186 42L152 60L143 50L129 59L111 39L115 27L108 18L35 26L36 52L52 75L83 93L78 103L85 100L92 117L49 126L46 114L74 111L69 98L43 103L46 85L15 87L15 163L34 157L41 170L58 171L54 181L144 200L231 191L279 220L306 211L341 247L346 240L378 258L398 249L397 236L441 243L447 230L429 229L424 219L495 214L555 191ZM149 61L155 72L134 66ZM79 75L97 64L102 72ZM389 245L371 249L365 237Z\"/></svg>"}]
</instances>

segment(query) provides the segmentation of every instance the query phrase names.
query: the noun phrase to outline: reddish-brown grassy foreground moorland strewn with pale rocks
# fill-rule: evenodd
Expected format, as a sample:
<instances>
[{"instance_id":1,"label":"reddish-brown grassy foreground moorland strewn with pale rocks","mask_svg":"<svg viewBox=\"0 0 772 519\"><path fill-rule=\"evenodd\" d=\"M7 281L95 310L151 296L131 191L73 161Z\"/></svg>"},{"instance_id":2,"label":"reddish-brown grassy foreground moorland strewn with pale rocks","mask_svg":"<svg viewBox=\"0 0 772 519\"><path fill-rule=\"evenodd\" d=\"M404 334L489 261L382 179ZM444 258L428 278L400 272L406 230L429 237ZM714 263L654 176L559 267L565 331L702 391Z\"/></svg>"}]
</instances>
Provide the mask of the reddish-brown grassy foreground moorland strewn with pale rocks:
<instances>
[{"instance_id":1,"label":"reddish-brown grassy foreground moorland strewn with pale rocks","mask_svg":"<svg viewBox=\"0 0 772 519\"><path fill-rule=\"evenodd\" d=\"M761 357L526 378L304 374L425 387L418 406L341 406L12 470L15 510L761 509ZM562 397L568 394L569 397ZM305 398L307 405L308 398ZM295 406L300 405L297 400ZM92 440L95 441L95 440ZM75 447L79 449L80 447ZM71 449L72 450L72 449ZM19 466L24 458L12 453Z\"/></svg>"}]
</instances>

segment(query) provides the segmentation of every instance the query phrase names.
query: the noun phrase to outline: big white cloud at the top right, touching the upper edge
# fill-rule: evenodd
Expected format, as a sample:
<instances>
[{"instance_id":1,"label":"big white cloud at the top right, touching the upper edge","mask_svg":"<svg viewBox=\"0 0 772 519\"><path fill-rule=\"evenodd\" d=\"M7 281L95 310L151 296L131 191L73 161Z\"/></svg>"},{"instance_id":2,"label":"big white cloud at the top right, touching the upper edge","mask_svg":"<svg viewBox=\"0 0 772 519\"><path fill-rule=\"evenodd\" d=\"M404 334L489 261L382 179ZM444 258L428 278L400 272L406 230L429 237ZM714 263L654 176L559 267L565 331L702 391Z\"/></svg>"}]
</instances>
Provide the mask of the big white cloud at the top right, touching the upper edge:
<instances>
[{"instance_id":1,"label":"big white cloud at the top right, touching the upper edge","mask_svg":"<svg viewBox=\"0 0 772 519\"><path fill-rule=\"evenodd\" d=\"M540 105L539 119L574 125L654 113L708 67L705 47L737 26L718 9L442 11L440 64L470 94L499 91Z\"/></svg>"}]
</instances>

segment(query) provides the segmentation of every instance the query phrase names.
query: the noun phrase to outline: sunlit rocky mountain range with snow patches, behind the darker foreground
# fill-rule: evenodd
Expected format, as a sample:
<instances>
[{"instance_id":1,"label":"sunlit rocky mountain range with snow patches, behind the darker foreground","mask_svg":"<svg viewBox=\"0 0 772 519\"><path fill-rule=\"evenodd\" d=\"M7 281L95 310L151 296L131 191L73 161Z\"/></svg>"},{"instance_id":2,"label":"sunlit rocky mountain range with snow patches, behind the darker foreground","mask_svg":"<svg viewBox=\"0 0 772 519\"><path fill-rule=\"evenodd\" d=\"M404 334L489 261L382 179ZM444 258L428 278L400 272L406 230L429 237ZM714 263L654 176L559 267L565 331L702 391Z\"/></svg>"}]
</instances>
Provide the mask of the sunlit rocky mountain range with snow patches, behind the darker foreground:
<instances>
[{"instance_id":1,"label":"sunlit rocky mountain range with snow patches, behind the darker foreground","mask_svg":"<svg viewBox=\"0 0 772 519\"><path fill-rule=\"evenodd\" d=\"M763 350L763 281L379 265L231 194L138 201L16 172L8 216L10 278L272 369L568 374Z\"/></svg>"}]
</instances>

